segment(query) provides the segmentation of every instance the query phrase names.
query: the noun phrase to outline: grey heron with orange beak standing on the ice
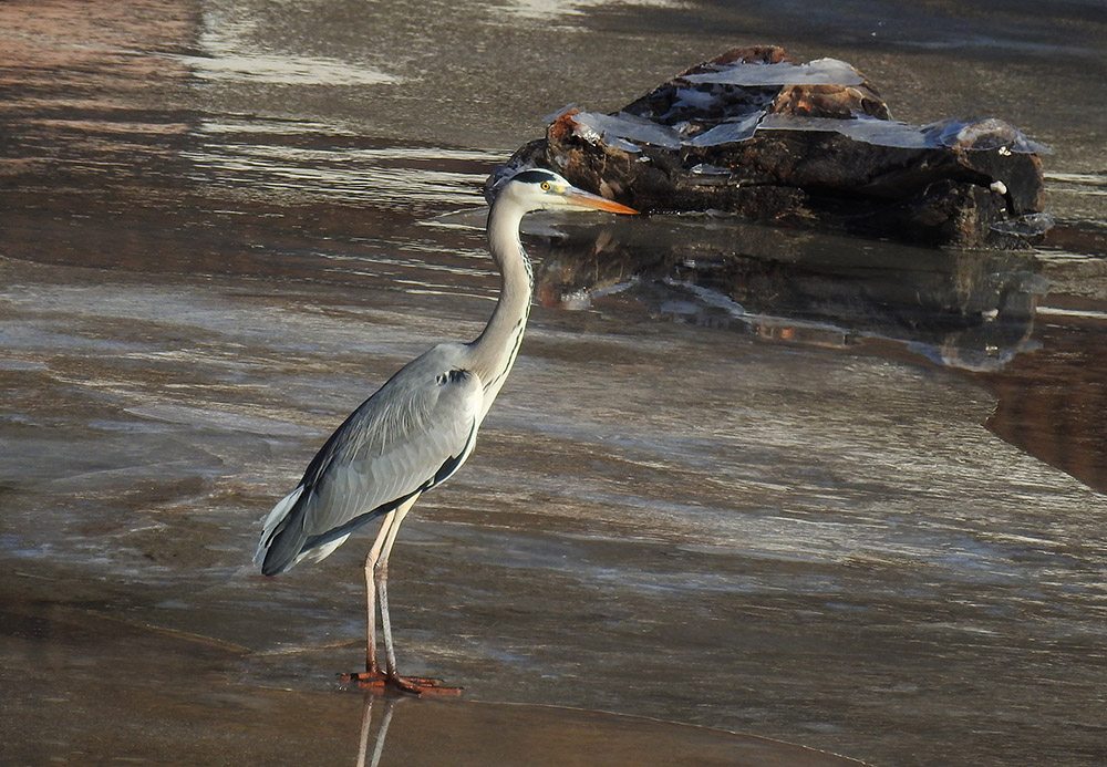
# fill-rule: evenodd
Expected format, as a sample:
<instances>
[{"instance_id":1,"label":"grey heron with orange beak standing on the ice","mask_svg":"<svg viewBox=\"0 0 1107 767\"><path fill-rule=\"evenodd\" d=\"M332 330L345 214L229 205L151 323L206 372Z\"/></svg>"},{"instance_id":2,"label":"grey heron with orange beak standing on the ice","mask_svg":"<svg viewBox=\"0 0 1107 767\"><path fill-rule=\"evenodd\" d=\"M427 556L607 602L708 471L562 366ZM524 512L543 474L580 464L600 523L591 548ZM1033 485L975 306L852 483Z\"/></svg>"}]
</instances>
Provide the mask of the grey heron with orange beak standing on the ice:
<instances>
[{"instance_id":1,"label":"grey heron with orange beak standing on the ice","mask_svg":"<svg viewBox=\"0 0 1107 767\"><path fill-rule=\"evenodd\" d=\"M369 684L420 693L433 680L396 671L389 616L389 556L423 493L448 479L473 452L477 428L507 380L530 313L532 273L519 226L532 210L638 213L573 187L556 173L528 169L508 180L488 213L488 249L500 273L496 308L470 343L441 343L407 363L330 436L303 478L265 520L256 561L266 576L319 561L359 528L383 517L365 558ZM376 657L381 613L385 667Z\"/></svg>"}]
</instances>

